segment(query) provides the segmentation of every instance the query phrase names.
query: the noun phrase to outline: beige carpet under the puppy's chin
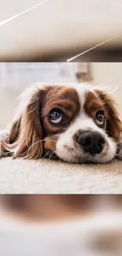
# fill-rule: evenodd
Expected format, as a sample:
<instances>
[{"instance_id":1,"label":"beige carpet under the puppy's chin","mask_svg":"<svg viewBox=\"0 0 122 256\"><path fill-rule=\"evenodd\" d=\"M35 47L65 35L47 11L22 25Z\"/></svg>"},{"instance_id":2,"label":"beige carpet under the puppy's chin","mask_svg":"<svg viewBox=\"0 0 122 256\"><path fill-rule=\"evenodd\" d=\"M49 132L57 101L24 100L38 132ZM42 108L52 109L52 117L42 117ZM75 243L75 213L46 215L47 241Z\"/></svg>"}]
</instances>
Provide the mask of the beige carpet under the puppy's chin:
<instances>
[{"instance_id":1,"label":"beige carpet under the puppy's chin","mask_svg":"<svg viewBox=\"0 0 122 256\"><path fill-rule=\"evenodd\" d=\"M122 161L78 165L1 158L0 193L122 193Z\"/></svg>"}]
</instances>

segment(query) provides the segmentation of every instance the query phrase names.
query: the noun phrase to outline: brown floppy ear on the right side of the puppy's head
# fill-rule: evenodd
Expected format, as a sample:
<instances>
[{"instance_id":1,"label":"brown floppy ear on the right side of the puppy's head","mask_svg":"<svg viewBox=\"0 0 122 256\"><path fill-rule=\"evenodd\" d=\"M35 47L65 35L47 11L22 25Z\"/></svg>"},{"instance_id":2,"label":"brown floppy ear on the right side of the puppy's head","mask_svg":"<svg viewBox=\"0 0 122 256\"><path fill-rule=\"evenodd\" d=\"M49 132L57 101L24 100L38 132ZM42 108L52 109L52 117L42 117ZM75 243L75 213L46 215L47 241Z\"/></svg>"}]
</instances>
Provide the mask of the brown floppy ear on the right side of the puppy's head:
<instances>
[{"instance_id":1,"label":"brown floppy ear on the right side of the puppy's head","mask_svg":"<svg viewBox=\"0 0 122 256\"><path fill-rule=\"evenodd\" d=\"M105 106L105 109L109 114L106 131L110 136L112 136L116 141L118 141L120 138L120 133L122 132L122 122L120 121L119 112L116 107L116 102L104 91L96 90L96 92L99 98L101 98Z\"/></svg>"}]
</instances>

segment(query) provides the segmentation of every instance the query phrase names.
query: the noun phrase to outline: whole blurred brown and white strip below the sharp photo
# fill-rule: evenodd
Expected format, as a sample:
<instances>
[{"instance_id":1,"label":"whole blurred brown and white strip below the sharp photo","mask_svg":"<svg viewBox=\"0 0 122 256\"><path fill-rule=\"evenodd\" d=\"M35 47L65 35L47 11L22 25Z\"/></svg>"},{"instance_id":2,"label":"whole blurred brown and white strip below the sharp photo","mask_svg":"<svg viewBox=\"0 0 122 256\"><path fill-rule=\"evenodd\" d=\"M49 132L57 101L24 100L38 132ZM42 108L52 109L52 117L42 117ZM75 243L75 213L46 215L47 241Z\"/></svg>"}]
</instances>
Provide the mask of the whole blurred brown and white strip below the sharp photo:
<instances>
[{"instance_id":1,"label":"whole blurred brown and white strip below the sharp photo","mask_svg":"<svg viewBox=\"0 0 122 256\"><path fill-rule=\"evenodd\" d=\"M122 195L0 195L2 256L120 256Z\"/></svg>"}]
</instances>

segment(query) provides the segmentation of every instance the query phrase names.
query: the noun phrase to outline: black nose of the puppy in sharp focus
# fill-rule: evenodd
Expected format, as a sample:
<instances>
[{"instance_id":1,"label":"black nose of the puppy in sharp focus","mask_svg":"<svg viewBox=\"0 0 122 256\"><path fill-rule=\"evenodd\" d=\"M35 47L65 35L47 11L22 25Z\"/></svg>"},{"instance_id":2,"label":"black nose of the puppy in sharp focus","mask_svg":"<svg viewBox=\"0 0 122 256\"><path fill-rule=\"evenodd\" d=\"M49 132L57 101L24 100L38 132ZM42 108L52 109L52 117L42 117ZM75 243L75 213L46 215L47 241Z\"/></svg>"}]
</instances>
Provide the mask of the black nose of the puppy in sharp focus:
<instances>
[{"instance_id":1,"label":"black nose of the puppy in sharp focus","mask_svg":"<svg viewBox=\"0 0 122 256\"><path fill-rule=\"evenodd\" d=\"M99 154L105 145L105 139L99 132L82 132L79 135L78 143L85 152Z\"/></svg>"}]
</instances>

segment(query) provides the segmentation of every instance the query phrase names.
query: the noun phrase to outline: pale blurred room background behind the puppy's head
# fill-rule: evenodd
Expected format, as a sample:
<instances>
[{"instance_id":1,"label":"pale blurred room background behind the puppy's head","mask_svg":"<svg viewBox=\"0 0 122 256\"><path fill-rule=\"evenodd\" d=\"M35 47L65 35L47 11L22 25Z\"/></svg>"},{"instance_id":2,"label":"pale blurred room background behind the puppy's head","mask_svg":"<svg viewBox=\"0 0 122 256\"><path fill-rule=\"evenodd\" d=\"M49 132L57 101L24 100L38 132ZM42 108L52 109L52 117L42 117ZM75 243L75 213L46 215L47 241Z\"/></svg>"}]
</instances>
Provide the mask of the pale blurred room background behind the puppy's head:
<instances>
[{"instance_id":1,"label":"pale blurred room background behind the puppy's head","mask_svg":"<svg viewBox=\"0 0 122 256\"><path fill-rule=\"evenodd\" d=\"M13 120L17 98L24 88L39 81L102 85L109 93L113 91L122 117L121 74L120 62L0 62L0 128L6 128Z\"/></svg>"}]
</instances>

